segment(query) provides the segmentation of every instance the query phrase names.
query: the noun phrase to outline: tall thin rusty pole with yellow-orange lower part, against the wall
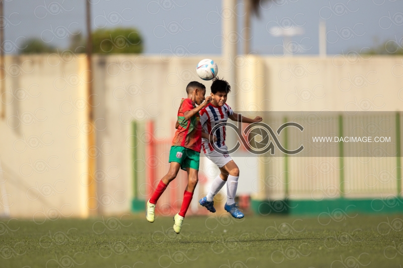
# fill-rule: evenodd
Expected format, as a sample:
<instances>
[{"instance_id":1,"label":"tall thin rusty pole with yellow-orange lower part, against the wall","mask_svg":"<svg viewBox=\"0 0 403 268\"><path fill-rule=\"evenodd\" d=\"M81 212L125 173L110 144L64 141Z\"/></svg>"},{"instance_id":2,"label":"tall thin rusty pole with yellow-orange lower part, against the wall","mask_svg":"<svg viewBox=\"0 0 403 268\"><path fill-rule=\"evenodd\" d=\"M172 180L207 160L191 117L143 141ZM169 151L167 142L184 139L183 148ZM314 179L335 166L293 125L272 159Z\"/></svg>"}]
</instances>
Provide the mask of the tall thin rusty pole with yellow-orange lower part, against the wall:
<instances>
[{"instance_id":1,"label":"tall thin rusty pole with yellow-orange lower part, against the wall","mask_svg":"<svg viewBox=\"0 0 403 268\"><path fill-rule=\"evenodd\" d=\"M94 126L94 113L93 113L93 91L92 91L92 32L91 32L91 3L90 0L86 0L86 25L87 25L87 98L88 98L88 121L92 126ZM96 199L96 191L97 185L94 180L95 171L96 171L96 159L91 157L91 151L96 150L95 144L95 130L93 129L88 134L88 147L87 153L88 157L88 208L90 215L97 214L97 199ZM94 175L93 175L94 174Z\"/></svg>"}]
</instances>

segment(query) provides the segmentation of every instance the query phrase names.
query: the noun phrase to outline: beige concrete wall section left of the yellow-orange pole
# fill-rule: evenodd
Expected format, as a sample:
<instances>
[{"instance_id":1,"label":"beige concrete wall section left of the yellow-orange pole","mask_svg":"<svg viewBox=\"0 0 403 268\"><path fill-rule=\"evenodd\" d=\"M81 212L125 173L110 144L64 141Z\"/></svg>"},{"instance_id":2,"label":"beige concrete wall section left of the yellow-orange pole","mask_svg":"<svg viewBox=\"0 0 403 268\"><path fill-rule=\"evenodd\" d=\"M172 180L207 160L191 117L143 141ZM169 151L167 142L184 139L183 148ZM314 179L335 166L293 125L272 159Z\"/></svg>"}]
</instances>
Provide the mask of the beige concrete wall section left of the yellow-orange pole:
<instances>
[{"instance_id":1,"label":"beige concrete wall section left of the yellow-orange pole","mask_svg":"<svg viewBox=\"0 0 403 268\"><path fill-rule=\"evenodd\" d=\"M0 120L0 209L11 217L86 217L86 63L53 56L6 57ZM77 127L76 127L77 126ZM8 205L7 205L8 204ZM39 219L41 218L41 219Z\"/></svg>"}]
</instances>

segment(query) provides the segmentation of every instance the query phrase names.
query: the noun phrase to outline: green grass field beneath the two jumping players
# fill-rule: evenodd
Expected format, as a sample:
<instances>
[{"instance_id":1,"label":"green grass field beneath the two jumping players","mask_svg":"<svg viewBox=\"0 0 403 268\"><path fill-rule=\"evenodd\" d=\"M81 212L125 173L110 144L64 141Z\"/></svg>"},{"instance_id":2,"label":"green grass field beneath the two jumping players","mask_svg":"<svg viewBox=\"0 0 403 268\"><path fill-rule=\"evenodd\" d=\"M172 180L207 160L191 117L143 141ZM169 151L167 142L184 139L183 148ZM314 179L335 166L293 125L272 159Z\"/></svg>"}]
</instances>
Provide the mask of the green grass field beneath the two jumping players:
<instances>
[{"instance_id":1,"label":"green grass field beneath the two jumping players","mask_svg":"<svg viewBox=\"0 0 403 268\"><path fill-rule=\"evenodd\" d=\"M213 214L212 214L213 215ZM402 267L403 215L0 221L0 267ZM121 218L121 219L120 219Z\"/></svg>"}]
</instances>

